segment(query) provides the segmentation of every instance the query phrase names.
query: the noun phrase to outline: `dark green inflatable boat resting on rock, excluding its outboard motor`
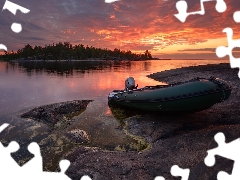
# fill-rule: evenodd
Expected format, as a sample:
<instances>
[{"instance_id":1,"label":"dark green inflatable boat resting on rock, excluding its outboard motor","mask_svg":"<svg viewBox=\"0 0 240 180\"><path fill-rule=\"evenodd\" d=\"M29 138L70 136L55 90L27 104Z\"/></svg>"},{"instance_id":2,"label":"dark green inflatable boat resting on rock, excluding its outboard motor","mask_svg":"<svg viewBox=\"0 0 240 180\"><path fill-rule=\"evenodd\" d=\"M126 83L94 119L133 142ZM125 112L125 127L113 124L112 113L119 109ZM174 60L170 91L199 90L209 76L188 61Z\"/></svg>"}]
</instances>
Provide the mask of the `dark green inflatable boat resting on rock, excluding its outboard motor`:
<instances>
[{"instance_id":1,"label":"dark green inflatable boat resting on rock, excluding its outboard motor","mask_svg":"<svg viewBox=\"0 0 240 180\"><path fill-rule=\"evenodd\" d=\"M114 90L109 104L159 112L196 112L229 98L231 86L210 77L194 78L169 85L146 86L133 90Z\"/></svg>"}]
</instances>

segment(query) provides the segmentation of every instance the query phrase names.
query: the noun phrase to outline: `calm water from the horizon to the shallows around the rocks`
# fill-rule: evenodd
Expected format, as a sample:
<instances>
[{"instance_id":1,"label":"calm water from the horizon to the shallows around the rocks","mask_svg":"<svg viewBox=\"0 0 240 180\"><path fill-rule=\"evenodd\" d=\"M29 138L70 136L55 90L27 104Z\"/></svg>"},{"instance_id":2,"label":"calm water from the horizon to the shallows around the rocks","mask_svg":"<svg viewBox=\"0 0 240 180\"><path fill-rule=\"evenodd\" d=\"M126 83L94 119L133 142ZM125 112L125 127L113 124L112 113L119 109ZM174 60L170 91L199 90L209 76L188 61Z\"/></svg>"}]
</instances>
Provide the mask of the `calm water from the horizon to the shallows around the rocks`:
<instances>
[{"instance_id":1,"label":"calm water from the horizon to the shallows around the rocks","mask_svg":"<svg viewBox=\"0 0 240 180\"><path fill-rule=\"evenodd\" d=\"M61 132L53 132L42 123L21 119L18 115L30 108L70 100L94 100L69 129L79 127L90 136L89 146L114 150L133 143L115 118L107 103L113 89L123 89L125 79L135 78L139 87L161 84L147 78L164 70L218 64L227 60L152 60L152 61L72 61L72 62L0 62L0 124L11 127L1 133L5 145L16 140L21 150L15 154L19 162L28 159L27 145L39 143L46 167L76 144L68 142ZM51 158L50 158L51 157ZM55 157L52 158L52 157Z\"/></svg>"}]
</instances>

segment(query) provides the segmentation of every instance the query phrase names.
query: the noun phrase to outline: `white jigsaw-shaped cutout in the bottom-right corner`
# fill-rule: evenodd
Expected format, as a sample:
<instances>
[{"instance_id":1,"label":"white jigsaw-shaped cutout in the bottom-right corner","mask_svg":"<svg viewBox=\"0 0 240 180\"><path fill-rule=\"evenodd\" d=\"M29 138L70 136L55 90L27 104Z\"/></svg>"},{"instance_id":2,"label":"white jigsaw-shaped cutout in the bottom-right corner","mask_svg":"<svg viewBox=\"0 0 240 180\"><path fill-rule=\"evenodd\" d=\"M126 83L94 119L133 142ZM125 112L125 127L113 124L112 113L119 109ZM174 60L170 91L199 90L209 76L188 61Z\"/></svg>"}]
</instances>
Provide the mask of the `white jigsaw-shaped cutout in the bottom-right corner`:
<instances>
[{"instance_id":1,"label":"white jigsaw-shaped cutout in the bottom-right corner","mask_svg":"<svg viewBox=\"0 0 240 180\"><path fill-rule=\"evenodd\" d=\"M217 175L218 180L239 180L240 177L240 138L226 143L223 133L218 133L214 136L215 141L218 143L218 147L208 150L208 155L204 159L204 163L207 166L213 166L215 164L215 155L230 159L234 161L232 174L229 175L226 172L220 171Z\"/></svg>"}]
</instances>

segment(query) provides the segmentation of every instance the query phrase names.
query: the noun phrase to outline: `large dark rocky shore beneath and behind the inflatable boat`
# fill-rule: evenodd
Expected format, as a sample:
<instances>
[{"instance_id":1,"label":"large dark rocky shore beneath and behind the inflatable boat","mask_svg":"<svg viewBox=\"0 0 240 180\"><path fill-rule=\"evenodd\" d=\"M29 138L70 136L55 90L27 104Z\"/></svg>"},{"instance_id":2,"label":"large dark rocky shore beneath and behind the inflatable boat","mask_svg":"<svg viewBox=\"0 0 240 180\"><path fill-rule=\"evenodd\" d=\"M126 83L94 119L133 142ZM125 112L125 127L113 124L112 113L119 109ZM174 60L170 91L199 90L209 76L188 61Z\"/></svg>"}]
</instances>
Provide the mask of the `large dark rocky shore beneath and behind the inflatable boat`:
<instances>
[{"instance_id":1,"label":"large dark rocky shore beneath and behind the inflatable boat","mask_svg":"<svg viewBox=\"0 0 240 180\"><path fill-rule=\"evenodd\" d=\"M132 134L144 137L152 143L152 148L141 152L126 152L79 146L64 157L71 161L67 175L72 179L80 179L86 174L94 180L150 180L156 176L163 176L167 180L180 179L170 174L173 165L189 168L190 180L217 179L219 171L231 174L233 161L216 156L216 164L208 167L204 164L204 158L207 150L218 146L214 141L216 133L223 132L226 142L239 137L240 80L237 73L238 69L231 69L229 64L218 64L149 75L167 83L215 76L232 86L232 94L227 101L197 113L140 113L126 117L123 120L127 124L125 128Z\"/></svg>"}]
</instances>

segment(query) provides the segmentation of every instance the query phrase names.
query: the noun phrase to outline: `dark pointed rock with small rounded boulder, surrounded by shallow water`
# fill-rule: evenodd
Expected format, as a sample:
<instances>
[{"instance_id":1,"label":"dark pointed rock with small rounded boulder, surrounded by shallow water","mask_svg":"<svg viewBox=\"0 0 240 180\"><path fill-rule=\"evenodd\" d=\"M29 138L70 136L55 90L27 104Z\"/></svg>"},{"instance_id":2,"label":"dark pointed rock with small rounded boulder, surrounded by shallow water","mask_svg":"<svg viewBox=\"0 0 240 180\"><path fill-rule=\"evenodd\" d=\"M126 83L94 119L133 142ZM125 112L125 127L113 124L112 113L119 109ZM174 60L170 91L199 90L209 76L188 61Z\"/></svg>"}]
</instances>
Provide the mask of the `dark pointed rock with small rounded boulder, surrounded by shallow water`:
<instances>
[{"instance_id":1,"label":"dark pointed rock with small rounded boulder, surrounded by shallow water","mask_svg":"<svg viewBox=\"0 0 240 180\"><path fill-rule=\"evenodd\" d=\"M51 131L66 136L71 142L89 143L88 134L81 129L66 130L74 122L74 117L79 116L91 100L74 100L39 106L20 115L47 124Z\"/></svg>"}]
</instances>

